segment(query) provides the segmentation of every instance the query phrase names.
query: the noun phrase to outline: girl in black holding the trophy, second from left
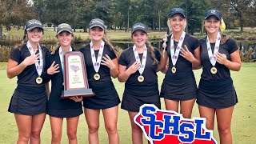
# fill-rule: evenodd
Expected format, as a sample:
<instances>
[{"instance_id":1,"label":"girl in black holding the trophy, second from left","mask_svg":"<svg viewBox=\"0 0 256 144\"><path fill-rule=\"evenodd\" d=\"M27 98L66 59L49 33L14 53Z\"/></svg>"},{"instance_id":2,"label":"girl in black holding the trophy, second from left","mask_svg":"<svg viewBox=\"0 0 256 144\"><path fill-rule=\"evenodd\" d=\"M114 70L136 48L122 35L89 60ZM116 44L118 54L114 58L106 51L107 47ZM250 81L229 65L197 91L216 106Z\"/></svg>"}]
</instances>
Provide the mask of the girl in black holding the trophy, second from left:
<instances>
[{"instance_id":1,"label":"girl in black holding the trophy, second from left","mask_svg":"<svg viewBox=\"0 0 256 144\"><path fill-rule=\"evenodd\" d=\"M70 143L78 143L77 128L79 115L82 114L82 97L61 98L64 70L63 55L68 51L74 51L71 41L74 34L70 25L62 23L57 27L56 38L58 46L47 54L47 74L43 76L46 81L51 81L50 97L46 114L50 116L51 143L61 143L63 118L66 118L66 134ZM68 69L67 69L68 70Z\"/></svg>"}]
</instances>

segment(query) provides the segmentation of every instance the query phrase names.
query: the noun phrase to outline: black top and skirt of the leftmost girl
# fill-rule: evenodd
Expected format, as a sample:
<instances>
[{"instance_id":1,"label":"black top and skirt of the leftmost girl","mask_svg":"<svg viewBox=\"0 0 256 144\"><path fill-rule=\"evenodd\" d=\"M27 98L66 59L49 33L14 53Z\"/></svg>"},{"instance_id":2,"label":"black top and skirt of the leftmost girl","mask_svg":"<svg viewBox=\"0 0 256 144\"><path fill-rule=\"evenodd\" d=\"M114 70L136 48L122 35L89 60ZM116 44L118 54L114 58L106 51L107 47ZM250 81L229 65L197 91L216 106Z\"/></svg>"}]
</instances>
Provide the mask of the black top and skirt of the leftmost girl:
<instances>
[{"instance_id":1,"label":"black top and skirt of the leftmost girl","mask_svg":"<svg viewBox=\"0 0 256 144\"><path fill-rule=\"evenodd\" d=\"M42 50L42 71L46 68L46 53L48 49L40 46ZM38 50L39 51L39 50ZM29 57L30 50L27 45L22 48L15 48L10 53L10 59L20 64L26 57ZM39 61L39 62L40 62ZM41 84L36 83L38 72L35 64L26 66L21 74L18 74L18 86L14 90L14 94L10 100L8 111L14 114L36 115L46 112L47 94L46 86L43 81Z\"/></svg>"}]
</instances>

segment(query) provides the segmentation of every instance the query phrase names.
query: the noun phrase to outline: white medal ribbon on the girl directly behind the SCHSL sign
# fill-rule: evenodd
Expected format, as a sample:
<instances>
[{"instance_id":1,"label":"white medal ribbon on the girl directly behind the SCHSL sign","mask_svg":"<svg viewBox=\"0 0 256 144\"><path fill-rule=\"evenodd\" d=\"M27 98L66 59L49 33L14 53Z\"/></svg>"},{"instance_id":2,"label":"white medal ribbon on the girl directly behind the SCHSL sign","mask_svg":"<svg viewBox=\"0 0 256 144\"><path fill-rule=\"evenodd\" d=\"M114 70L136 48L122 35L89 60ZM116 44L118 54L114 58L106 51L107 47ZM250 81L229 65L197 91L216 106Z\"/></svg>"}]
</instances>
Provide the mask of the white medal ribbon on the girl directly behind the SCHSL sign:
<instances>
[{"instance_id":1,"label":"white medal ribbon on the girl directly behind the SCHSL sign","mask_svg":"<svg viewBox=\"0 0 256 144\"><path fill-rule=\"evenodd\" d=\"M144 46L144 50L143 50L143 55L142 55L142 62L138 56L138 49L136 48L136 46L134 45L133 47L133 50L134 50L134 57L135 57L135 60L137 62L140 63L140 66L139 66L139 69L138 69L138 72L139 74L142 74L144 69L145 69L145 65L146 65L146 55L147 55L147 48L146 48L146 45Z\"/></svg>"}]
</instances>

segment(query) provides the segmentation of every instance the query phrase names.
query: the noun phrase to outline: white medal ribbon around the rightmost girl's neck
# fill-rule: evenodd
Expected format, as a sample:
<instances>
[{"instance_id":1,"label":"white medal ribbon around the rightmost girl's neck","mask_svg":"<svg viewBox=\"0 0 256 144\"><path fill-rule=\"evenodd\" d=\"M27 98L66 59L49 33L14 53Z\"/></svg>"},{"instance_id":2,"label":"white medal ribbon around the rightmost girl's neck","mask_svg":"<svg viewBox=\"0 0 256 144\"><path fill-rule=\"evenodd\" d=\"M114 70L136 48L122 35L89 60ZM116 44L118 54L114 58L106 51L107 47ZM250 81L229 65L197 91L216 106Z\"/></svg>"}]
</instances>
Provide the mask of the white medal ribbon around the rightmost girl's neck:
<instances>
[{"instance_id":1,"label":"white medal ribbon around the rightmost girl's neck","mask_svg":"<svg viewBox=\"0 0 256 144\"><path fill-rule=\"evenodd\" d=\"M214 46L214 54L216 54L218 52L220 42L221 42L221 34L218 33L216 42L215 42L215 46ZM208 57L210 59L210 63L211 63L211 65L215 66L216 61L214 59L214 56L213 56L214 54L212 53L212 50L210 47L210 40L209 40L208 36L206 39L206 44L207 44L207 51L208 51Z\"/></svg>"}]
</instances>

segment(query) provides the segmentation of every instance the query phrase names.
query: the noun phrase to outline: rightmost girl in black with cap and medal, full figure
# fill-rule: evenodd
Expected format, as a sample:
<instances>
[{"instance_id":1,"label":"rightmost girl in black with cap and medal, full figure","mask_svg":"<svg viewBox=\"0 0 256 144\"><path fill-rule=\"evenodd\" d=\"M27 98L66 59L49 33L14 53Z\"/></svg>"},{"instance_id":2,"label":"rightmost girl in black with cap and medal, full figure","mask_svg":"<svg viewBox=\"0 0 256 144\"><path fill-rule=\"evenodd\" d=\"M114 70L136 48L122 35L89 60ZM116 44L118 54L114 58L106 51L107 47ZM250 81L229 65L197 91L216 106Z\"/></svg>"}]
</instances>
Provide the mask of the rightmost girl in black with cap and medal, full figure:
<instances>
[{"instance_id":1,"label":"rightmost girl in black with cap and medal, full figure","mask_svg":"<svg viewBox=\"0 0 256 144\"><path fill-rule=\"evenodd\" d=\"M200 116L206 118L206 128L214 130L214 115L221 143L232 143L230 131L234 105L238 102L230 70L238 71L241 60L233 38L220 31L222 13L208 10L204 20L206 37L200 39L202 75L198 86Z\"/></svg>"}]
</instances>

